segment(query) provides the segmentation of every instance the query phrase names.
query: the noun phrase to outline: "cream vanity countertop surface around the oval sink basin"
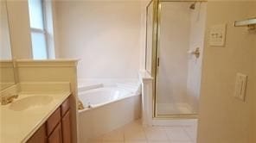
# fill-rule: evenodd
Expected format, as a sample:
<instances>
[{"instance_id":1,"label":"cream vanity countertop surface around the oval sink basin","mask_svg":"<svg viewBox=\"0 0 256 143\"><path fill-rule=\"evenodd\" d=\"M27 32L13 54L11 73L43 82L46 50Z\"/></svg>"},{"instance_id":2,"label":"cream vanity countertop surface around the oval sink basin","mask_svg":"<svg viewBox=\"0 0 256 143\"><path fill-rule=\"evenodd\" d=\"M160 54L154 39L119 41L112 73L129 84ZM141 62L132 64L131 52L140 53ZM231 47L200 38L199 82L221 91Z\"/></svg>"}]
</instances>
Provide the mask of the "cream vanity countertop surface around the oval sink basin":
<instances>
[{"instance_id":1,"label":"cream vanity countertop surface around the oval sink basin","mask_svg":"<svg viewBox=\"0 0 256 143\"><path fill-rule=\"evenodd\" d=\"M28 96L53 97L51 103L42 108L25 109L22 111L10 109L10 103L0 105L0 143L20 143L29 140L69 95L71 95L69 91L43 94L20 93L14 102Z\"/></svg>"}]
</instances>

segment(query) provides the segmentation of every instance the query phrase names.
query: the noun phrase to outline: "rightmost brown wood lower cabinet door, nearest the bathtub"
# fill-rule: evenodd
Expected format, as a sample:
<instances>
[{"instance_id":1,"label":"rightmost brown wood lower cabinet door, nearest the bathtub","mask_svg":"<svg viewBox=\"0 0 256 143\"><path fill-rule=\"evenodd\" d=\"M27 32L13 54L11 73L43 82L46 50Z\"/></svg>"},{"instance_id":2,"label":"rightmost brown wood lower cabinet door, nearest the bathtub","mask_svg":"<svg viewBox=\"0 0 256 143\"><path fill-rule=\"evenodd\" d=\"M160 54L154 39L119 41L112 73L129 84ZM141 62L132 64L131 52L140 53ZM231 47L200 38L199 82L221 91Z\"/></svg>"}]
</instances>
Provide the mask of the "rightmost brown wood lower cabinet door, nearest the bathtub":
<instances>
[{"instance_id":1,"label":"rightmost brown wood lower cabinet door, nearest the bathtub","mask_svg":"<svg viewBox=\"0 0 256 143\"><path fill-rule=\"evenodd\" d=\"M63 116L63 118L61 119L61 123L63 143L71 143L70 110L68 110L66 115Z\"/></svg>"}]
</instances>

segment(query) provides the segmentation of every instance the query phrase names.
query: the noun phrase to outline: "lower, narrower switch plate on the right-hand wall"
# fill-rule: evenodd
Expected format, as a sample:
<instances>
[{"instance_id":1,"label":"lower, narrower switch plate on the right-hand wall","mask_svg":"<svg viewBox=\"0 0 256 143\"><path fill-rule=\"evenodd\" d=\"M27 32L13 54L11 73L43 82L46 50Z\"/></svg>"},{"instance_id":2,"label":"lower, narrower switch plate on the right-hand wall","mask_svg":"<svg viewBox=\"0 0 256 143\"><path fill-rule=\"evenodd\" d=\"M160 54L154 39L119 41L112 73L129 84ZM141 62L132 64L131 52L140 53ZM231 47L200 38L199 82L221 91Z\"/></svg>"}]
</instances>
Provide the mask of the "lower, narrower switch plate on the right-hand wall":
<instances>
[{"instance_id":1,"label":"lower, narrower switch plate on the right-hand wall","mask_svg":"<svg viewBox=\"0 0 256 143\"><path fill-rule=\"evenodd\" d=\"M246 86L247 86L247 76L242 73L237 73L236 81L235 81L235 89L234 89L234 96L237 99L239 99L241 101L245 101Z\"/></svg>"}]
</instances>

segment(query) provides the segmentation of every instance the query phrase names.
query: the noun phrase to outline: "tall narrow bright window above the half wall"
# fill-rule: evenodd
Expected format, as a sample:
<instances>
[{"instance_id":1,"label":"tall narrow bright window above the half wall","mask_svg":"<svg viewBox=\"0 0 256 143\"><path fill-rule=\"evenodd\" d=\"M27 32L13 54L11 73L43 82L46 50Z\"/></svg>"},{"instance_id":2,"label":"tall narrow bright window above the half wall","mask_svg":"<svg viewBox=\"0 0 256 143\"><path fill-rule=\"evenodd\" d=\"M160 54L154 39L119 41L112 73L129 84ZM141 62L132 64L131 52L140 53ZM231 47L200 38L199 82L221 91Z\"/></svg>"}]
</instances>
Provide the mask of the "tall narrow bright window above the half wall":
<instances>
[{"instance_id":1,"label":"tall narrow bright window above the half wall","mask_svg":"<svg viewBox=\"0 0 256 143\"><path fill-rule=\"evenodd\" d=\"M33 59L48 59L47 32L42 0L29 0Z\"/></svg>"}]
</instances>

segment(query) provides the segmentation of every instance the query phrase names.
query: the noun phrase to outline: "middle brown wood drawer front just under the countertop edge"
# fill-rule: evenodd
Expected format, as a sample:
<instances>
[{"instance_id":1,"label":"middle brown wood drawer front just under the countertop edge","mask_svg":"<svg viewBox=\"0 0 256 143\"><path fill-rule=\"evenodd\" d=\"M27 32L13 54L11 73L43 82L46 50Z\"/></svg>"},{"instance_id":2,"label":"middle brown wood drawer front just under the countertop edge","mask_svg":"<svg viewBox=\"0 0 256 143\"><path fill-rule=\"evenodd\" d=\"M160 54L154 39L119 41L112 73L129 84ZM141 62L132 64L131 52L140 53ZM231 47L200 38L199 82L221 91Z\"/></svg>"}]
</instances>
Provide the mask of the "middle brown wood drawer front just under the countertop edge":
<instances>
[{"instance_id":1,"label":"middle brown wood drawer front just under the countertop edge","mask_svg":"<svg viewBox=\"0 0 256 143\"><path fill-rule=\"evenodd\" d=\"M48 118L48 121L46 123L47 124L47 135L49 135L53 132L54 127L56 127L60 121L61 121L61 109L58 108Z\"/></svg>"}]
</instances>

